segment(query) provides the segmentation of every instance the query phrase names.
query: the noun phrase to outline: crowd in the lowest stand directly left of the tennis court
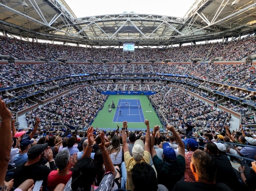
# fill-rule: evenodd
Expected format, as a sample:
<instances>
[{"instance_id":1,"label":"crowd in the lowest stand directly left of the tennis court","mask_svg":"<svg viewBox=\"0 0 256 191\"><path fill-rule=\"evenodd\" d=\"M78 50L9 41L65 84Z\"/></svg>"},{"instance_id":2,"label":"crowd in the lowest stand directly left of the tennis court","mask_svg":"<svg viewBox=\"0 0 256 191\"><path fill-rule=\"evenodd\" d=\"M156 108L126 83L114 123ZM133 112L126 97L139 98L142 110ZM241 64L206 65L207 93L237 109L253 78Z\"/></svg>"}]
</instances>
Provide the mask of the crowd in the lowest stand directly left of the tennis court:
<instances>
[{"instance_id":1,"label":"crowd in the lowest stand directly left of the tennis court","mask_svg":"<svg viewBox=\"0 0 256 191\"><path fill-rule=\"evenodd\" d=\"M106 96L90 89L91 94L85 87L80 87L58 99L43 105L40 109L35 109L27 113L39 115L43 125L51 125L52 122L59 125L69 124L75 127L86 127L95 116L98 109L103 104ZM59 92L51 91L54 96Z\"/></svg>"}]
</instances>

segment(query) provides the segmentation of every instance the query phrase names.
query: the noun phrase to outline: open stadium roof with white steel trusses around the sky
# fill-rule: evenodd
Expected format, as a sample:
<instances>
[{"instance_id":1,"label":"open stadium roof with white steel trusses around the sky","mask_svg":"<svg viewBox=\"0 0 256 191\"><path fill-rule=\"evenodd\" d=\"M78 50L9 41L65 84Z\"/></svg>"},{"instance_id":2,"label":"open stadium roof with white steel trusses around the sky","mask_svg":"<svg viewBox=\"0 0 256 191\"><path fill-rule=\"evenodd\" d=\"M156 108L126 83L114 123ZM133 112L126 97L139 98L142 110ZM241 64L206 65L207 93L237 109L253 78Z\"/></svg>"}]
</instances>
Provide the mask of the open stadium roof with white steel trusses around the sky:
<instances>
[{"instance_id":1,"label":"open stadium roof with white steel trusses around the sky","mask_svg":"<svg viewBox=\"0 0 256 191\"><path fill-rule=\"evenodd\" d=\"M254 0L196 0L184 17L123 12L76 18L64 0L0 0L0 12L0 29L9 33L90 45L169 45L256 30Z\"/></svg>"}]
</instances>

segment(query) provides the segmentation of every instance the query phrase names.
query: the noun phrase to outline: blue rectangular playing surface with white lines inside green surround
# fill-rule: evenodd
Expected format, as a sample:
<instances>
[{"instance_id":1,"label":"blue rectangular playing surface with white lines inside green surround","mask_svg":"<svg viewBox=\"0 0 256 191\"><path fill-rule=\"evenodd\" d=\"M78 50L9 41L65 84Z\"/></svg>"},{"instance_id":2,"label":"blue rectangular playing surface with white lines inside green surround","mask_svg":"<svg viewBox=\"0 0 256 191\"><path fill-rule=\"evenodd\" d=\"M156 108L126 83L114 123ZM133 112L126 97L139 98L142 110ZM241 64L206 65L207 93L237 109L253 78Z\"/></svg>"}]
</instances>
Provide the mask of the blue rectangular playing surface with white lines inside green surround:
<instances>
[{"instance_id":1,"label":"blue rectangular playing surface with white lines inside green surround","mask_svg":"<svg viewBox=\"0 0 256 191\"><path fill-rule=\"evenodd\" d=\"M113 122L138 122L145 121L139 99L119 99Z\"/></svg>"}]
</instances>

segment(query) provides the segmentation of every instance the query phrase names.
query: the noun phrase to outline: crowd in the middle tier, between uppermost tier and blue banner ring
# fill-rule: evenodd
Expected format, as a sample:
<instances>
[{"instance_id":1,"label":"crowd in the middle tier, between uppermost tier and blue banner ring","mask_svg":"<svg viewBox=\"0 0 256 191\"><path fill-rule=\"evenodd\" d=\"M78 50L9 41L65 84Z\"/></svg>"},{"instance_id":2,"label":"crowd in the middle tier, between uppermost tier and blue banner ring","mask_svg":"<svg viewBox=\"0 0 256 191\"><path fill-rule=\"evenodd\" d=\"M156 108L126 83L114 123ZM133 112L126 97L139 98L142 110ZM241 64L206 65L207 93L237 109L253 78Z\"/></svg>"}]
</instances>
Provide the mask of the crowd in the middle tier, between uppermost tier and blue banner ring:
<instances>
[{"instance_id":1,"label":"crowd in the middle tier, between uppermost tier and blue banner ring","mask_svg":"<svg viewBox=\"0 0 256 191\"><path fill-rule=\"evenodd\" d=\"M252 63L243 63L236 65L217 65L217 64L8 64L0 65L2 87L10 85L24 84L40 80L46 80L53 77L70 76L72 73L151 73L163 72L169 74L184 74L188 76L210 79L228 84L254 88L255 67ZM188 68L187 68L188 67ZM153 68L153 70L152 70ZM54 71L54 72L52 72ZM95 78L96 76L82 76L82 78ZM101 76L104 77L104 76ZM108 77L106 75L106 77ZM120 77L120 76L116 76ZM122 77L133 77L122 75ZM139 77L139 75L137 75ZM141 77L143 77L141 75ZM170 79L173 76L158 76ZM189 80L189 79L188 79ZM199 81L200 82L200 81ZM199 83L196 82L196 83ZM212 87L212 86L211 86ZM212 87L214 90L218 87Z\"/></svg>"}]
</instances>

